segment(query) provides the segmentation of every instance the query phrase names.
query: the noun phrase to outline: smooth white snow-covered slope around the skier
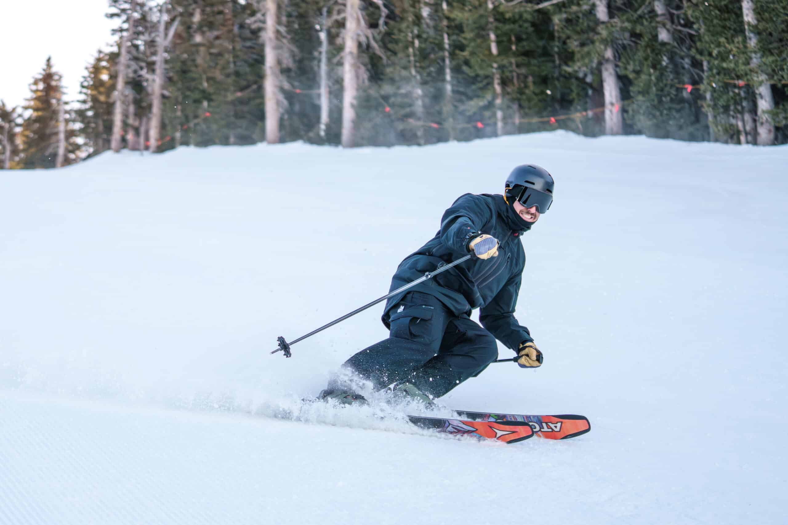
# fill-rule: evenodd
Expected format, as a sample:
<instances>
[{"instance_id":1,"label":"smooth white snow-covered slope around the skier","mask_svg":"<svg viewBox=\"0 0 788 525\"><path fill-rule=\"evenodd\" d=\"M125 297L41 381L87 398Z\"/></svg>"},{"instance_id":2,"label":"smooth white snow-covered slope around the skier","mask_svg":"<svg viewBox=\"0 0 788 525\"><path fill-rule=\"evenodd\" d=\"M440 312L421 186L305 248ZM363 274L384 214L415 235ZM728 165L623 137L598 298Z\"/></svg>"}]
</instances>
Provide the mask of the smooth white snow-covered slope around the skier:
<instances>
[{"instance_id":1,"label":"smooth white snow-covered slope around the skier","mask_svg":"<svg viewBox=\"0 0 788 525\"><path fill-rule=\"evenodd\" d=\"M518 307L545 364L442 401L589 434L261 416L386 331L375 307L291 359L278 335L384 294L459 194L525 162L556 178ZM786 201L785 146L566 132L0 173L0 523L782 523Z\"/></svg>"}]
</instances>

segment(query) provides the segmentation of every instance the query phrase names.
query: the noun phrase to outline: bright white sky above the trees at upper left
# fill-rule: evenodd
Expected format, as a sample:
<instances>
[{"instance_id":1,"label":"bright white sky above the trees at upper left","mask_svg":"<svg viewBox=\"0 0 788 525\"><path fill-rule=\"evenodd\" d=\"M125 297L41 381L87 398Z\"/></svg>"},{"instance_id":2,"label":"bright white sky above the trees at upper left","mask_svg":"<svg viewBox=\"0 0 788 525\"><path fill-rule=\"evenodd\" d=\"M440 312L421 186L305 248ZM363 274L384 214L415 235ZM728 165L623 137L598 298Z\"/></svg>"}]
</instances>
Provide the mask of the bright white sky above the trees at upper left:
<instances>
[{"instance_id":1,"label":"bright white sky above the trees at upper left","mask_svg":"<svg viewBox=\"0 0 788 525\"><path fill-rule=\"evenodd\" d=\"M51 55L66 99L76 100L85 67L112 39L117 20L105 18L107 11L107 0L0 0L0 99L24 104L28 84Z\"/></svg>"}]
</instances>

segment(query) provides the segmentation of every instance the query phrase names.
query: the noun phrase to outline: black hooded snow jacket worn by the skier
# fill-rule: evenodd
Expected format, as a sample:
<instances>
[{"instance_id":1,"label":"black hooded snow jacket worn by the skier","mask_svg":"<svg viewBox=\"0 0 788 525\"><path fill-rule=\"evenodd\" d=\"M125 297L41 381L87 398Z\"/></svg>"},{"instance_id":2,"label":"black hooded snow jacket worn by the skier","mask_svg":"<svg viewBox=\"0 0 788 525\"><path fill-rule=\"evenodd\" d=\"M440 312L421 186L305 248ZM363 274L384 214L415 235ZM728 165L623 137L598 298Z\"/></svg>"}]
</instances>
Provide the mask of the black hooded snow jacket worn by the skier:
<instances>
[{"instance_id":1,"label":"black hooded snow jacket worn by the skier","mask_svg":"<svg viewBox=\"0 0 788 525\"><path fill-rule=\"evenodd\" d=\"M533 341L528 328L521 326L514 316L522 270L526 266L520 237L530 227L504 201L503 195L464 194L446 210L435 237L400 263L389 291L466 256L468 242L480 233L498 239L498 257L487 260L474 257L389 298L383 324L390 327L389 309L404 294L420 291L438 298L456 316L470 316L471 310L481 308L481 326L511 349L517 349L520 342Z\"/></svg>"}]
</instances>

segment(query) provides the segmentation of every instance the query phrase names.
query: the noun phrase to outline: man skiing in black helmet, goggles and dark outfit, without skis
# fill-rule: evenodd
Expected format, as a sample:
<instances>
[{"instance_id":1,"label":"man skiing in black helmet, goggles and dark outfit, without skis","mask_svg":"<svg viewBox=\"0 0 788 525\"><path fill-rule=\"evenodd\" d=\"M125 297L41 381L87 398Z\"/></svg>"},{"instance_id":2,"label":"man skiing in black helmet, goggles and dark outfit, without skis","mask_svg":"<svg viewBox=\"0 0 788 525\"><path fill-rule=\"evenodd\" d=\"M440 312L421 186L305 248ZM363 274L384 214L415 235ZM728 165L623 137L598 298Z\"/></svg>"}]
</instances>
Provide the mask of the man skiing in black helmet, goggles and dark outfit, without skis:
<instances>
[{"instance_id":1,"label":"man skiing in black helmet, goggles and dark outfit, without skis","mask_svg":"<svg viewBox=\"0 0 788 525\"><path fill-rule=\"evenodd\" d=\"M440 221L440 231L400 263L390 290L468 253L475 257L389 298L382 316L388 338L345 361L320 393L341 404L366 403L356 376L374 390L433 405L498 357L496 339L515 350L522 368L537 368L541 351L515 319L526 264L520 240L552 203L552 176L537 165L516 167L504 194L464 194ZM481 326L470 312L481 309Z\"/></svg>"}]
</instances>

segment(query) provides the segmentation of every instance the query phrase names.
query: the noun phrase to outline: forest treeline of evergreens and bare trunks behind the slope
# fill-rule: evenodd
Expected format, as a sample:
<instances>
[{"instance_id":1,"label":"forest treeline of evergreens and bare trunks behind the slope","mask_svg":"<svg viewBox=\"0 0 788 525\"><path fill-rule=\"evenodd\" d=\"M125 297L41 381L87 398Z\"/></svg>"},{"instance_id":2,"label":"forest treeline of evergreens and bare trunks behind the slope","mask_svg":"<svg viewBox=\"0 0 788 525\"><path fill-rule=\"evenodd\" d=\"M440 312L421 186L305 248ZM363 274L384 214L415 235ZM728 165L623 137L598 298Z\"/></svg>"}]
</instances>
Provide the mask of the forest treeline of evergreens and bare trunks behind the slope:
<instances>
[{"instance_id":1,"label":"forest treeline of evergreens and bare trunks behind the slope","mask_svg":"<svg viewBox=\"0 0 788 525\"><path fill-rule=\"evenodd\" d=\"M110 0L68 98L0 102L2 168L106 150L568 129L788 142L785 0Z\"/></svg>"}]
</instances>

